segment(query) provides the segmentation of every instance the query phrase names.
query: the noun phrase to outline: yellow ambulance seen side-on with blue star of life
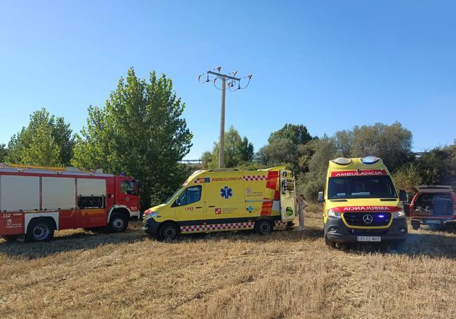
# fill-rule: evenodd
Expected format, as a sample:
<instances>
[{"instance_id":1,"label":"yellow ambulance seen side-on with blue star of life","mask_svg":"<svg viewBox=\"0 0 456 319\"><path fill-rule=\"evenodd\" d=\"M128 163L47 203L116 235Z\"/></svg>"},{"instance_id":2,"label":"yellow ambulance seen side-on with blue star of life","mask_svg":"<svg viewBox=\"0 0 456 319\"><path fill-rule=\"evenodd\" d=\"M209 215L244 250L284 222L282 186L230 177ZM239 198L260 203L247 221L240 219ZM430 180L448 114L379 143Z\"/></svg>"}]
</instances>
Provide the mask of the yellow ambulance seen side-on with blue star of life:
<instances>
[{"instance_id":1,"label":"yellow ambulance seen side-on with blue star of life","mask_svg":"<svg viewBox=\"0 0 456 319\"><path fill-rule=\"evenodd\" d=\"M284 167L197 170L169 200L145 211L142 231L163 240L185 233L255 229L295 218L295 177Z\"/></svg>"}]
</instances>

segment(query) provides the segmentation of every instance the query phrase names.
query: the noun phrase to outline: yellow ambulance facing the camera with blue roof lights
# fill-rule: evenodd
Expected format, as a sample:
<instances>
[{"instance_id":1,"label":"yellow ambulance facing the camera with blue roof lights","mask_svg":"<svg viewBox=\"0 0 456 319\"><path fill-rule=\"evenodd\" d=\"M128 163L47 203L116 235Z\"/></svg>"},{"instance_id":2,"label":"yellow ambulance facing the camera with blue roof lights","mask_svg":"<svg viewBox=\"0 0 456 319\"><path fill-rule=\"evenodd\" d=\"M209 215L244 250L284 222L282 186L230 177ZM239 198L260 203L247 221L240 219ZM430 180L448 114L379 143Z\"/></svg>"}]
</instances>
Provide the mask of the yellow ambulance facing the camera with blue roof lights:
<instances>
[{"instance_id":1,"label":"yellow ambulance facing the camera with blue roof lights","mask_svg":"<svg viewBox=\"0 0 456 319\"><path fill-rule=\"evenodd\" d=\"M405 191L396 191L380 158L336 158L329 162L324 203L327 245L401 242L407 236Z\"/></svg>"}]
</instances>

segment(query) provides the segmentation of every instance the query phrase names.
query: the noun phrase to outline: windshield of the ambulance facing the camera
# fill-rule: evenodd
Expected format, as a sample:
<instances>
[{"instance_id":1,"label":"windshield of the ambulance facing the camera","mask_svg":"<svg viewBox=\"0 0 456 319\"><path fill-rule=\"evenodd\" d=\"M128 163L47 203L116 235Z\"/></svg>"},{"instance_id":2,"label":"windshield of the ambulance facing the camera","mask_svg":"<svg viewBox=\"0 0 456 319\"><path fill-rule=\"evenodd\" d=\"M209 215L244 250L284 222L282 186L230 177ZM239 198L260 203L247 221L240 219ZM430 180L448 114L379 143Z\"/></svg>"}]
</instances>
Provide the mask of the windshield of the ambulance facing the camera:
<instances>
[{"instance_id":1,"label":"windshield of the ambulance facing the camera","mask_svg":"<svg viewBox=\"0 0 456 319\"><path fill-rule=\"evenodd\" d=\"M330 177L328 198L397 198L391 177L344 176Z\"/></svg>"}]
</instances>

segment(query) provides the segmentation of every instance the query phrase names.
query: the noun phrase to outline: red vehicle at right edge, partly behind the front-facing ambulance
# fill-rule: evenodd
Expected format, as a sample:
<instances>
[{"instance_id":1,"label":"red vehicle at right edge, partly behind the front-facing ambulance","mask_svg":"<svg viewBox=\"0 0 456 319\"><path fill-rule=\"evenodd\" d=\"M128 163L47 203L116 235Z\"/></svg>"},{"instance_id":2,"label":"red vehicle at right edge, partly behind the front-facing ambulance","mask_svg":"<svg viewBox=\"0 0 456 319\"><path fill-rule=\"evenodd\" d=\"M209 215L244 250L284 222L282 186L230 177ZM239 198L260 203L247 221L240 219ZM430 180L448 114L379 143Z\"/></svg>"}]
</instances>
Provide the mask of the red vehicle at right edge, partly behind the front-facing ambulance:
<instances>
[{"instance_id":1,"label":"red vehicle at right edge, partly behind the front-facing ambulance","mask_svg":"<svg viewBox=\"0 0 456 319\"><path fill-rule=\"evenodd\" d=\"M413 229L421 225L456 226L456 194L451 186L416 186L417 194L410 203Z\"/></svg>"}]
</instances>

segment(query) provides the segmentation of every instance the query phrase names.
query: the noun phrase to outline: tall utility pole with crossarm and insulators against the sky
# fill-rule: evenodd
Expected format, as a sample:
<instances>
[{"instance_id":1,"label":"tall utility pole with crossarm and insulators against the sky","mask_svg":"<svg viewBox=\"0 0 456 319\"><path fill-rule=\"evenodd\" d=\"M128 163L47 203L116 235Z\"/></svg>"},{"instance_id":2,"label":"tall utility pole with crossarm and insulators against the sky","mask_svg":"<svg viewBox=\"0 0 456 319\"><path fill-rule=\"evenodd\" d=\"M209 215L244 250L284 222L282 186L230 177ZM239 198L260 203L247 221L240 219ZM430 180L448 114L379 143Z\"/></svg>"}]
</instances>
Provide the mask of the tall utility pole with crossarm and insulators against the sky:
<instances>
[{"instance_id":1,"label":"tall utility pole with crossarm and insulators against the sky","mask_svg":"<svg viewBox=\"0 0 456 319\"><path fill-rule=\"evenodd\" d=\"M218 167L219 168L224 168L224 103L225 103L225 93L227 90L227 85L230 91L234 92L236 90L241 90L243 88L247 88L248 84L250 83L250 79L252 79L252 75L244 76L243 78L236 78L237 71L232 72L230 74L222 74L220 73L220 69L222 67L217 67L214 71L208 71L207 73L207 79L203 83L208 83L208 82L213 82L215 88L222 90L222 106L220 108L220 140L219 140L219 152L218 152ZM214 79L209 79L209 74L212 76L215 76ZM248 79L248 83L245 87L241 88L241 80L242 79ZM198 76L198 81L201 79L201 74ZM222 81L222 88L218 88L217 85L215 84L217 79L220 79ZM227 84L228 80L228 84ZM200 81L201 82L201 81ZM237 87L234 88L237 84ZM232 89L234 88L234 89Z\"/></svg>"}]
</instances>

